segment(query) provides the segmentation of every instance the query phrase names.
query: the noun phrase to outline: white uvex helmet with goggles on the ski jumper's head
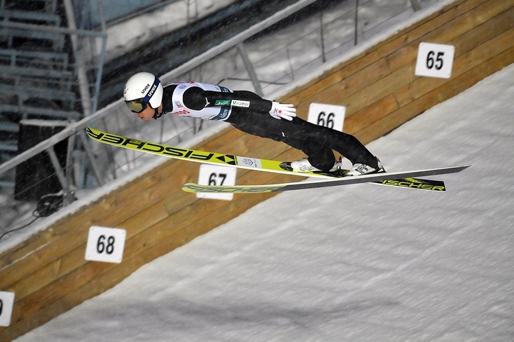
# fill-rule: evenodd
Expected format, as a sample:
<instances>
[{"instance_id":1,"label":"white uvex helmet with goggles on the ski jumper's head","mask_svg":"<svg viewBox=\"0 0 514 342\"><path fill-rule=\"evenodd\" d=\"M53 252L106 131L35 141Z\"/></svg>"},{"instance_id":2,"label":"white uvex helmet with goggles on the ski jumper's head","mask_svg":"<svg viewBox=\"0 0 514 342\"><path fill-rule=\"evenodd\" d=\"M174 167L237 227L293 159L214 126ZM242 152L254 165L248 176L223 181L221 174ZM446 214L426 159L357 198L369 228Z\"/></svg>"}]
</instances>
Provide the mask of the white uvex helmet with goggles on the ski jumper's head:
<instances>
[{"instance_id":1,"label":"white uvex helmet with goggles on the ski jumper's head","mask_svg":"<svg viewBox=\"0 0 514 342\"><path fill-rule=\"evenodd\" d=\"M132 112L142 112L149 104L157 109L162 102L162 84L153 73L136 73L123 88L125 103Z\"/></svg>"}]
</instances>

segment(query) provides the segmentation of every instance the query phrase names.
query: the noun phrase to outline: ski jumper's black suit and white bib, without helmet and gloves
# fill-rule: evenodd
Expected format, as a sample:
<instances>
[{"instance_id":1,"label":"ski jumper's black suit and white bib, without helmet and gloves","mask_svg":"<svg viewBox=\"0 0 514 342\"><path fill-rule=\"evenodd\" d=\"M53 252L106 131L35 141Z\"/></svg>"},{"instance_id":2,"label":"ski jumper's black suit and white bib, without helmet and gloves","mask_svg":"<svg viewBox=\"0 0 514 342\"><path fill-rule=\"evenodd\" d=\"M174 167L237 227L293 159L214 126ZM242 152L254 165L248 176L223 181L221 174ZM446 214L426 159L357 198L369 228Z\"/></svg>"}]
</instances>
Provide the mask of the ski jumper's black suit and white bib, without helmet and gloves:
<instances>
[{"instance_id":1,"label":"ski jumper's black suit and white bib, without helmet and gloves","mask_svg":"<svg viewBox=\"0 0 514 342\"><path fill-rule=\"evenodd\" d=\"M322 171L334 167L333 150L352 164L378 165L376 157L354 136L299 117L293 117L292 121L274 119L269 114L272 101L251 91L199 82L175 82L164 86L162 103L164 114L226 121L245 133L286 143L303 151L310 164Z\"/></svg>"}]
</instances>

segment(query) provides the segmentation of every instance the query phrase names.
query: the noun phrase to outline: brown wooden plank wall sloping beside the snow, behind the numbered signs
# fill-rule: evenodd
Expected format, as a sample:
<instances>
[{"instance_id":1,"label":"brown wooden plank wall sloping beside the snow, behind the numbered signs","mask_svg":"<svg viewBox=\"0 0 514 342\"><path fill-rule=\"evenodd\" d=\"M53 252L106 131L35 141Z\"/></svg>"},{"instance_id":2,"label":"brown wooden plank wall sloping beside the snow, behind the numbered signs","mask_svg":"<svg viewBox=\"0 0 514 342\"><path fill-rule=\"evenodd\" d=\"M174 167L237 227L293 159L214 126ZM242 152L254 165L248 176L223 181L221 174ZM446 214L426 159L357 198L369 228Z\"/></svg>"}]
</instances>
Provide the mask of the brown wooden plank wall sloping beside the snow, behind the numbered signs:
<instances>
[{"instance_id":1,"label":"brown wooden plank wall sloping beside the snow, behind the numbered signs","mask_svg":"<svg viewBox=\"0 0 514 342\"><path fill-rule=\"evenodd\" d=\"M513 26L514 0L456 0L281 100L295 103L302 117L312 102L347 106L345 131L369 143L513 63ZM450 79L414 75L420 42L455 46ZM277 160L302 157L282 143L233 129L195 148ZM99 295L145 263L271 197L197 199L180 190L184 182L196 181L197 174L198 164L170 160L1 254L0 290L14 291L16 300L10 326L0 328L0 340L19 337ZM240 170L237 183L288 180L293 178ZM84 260L91 225L127 230L123 262Z\"/></svg>"}]
</instances>

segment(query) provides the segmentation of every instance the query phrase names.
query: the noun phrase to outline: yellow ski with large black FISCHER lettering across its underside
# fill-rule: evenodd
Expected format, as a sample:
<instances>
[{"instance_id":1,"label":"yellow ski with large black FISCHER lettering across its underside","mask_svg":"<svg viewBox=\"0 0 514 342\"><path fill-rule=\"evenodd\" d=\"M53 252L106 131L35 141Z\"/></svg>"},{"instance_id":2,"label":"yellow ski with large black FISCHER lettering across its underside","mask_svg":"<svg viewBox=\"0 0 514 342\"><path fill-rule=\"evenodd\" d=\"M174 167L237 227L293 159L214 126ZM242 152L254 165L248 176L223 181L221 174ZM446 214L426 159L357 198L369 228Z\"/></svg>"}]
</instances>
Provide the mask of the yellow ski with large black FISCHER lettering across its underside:
<instances>
[{"instance_id":1,"label":"yellow ski with large black FISCHER lettering across its underside","mask_svg":"<svg viewBox=\"0 0 514 342\"><path fill-rule=\"evenodd\" d=\"M205 164L224 165L227 167L236 167L239 169L249 169L256 171L265 171L271 173L282 173L286 175L299 175L302 177L321 178L325 180L334 180L342 177L347 170L338 170L337 174L316 173L316 172L297 172L284 169L283 162L277 160L267 160L260 158L251 158L243 156L234 156L232 154L219 154L215 152L199 151L195 149L184 149L159 143L151 143L141 141L134 138L127 138L108 132L101 132L92 127L86 128L88 136L99 143L123 147L149 154L156 154L167 158L175 158L180 160L188 160L191 162L200 162ZM282 166L281 166L282 164ZM398 178L393 180L378 180L373 184L382 184L387 186L397 186L402 188L417 188L427 191L445 191L445 185L437 180L424 180L419 178Z\"/></svg>"}]
</instances>

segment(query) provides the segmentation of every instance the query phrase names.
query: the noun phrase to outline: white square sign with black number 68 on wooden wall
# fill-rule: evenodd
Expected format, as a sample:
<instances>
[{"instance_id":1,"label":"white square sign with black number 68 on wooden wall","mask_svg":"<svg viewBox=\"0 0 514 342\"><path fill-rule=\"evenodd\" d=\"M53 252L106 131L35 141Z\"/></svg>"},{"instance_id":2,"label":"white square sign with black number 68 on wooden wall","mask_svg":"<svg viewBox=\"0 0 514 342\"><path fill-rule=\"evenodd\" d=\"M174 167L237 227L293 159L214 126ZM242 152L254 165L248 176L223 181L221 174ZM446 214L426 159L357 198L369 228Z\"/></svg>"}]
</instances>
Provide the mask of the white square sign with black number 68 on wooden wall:
<instances>
[{"instance_id":1,"label":"white square sign with black number 68 on wooden wall","mask_svg":"<svg viewBox=\"0 0 514 342\"><path fill-rule=\"evenodd\" d=\"M121 262L127 231L119 228L89 228L86 260Z\"/></svg>"}]
</instances>

